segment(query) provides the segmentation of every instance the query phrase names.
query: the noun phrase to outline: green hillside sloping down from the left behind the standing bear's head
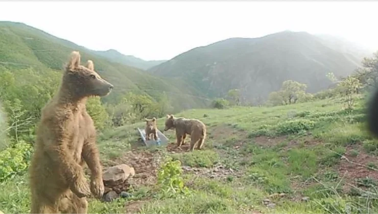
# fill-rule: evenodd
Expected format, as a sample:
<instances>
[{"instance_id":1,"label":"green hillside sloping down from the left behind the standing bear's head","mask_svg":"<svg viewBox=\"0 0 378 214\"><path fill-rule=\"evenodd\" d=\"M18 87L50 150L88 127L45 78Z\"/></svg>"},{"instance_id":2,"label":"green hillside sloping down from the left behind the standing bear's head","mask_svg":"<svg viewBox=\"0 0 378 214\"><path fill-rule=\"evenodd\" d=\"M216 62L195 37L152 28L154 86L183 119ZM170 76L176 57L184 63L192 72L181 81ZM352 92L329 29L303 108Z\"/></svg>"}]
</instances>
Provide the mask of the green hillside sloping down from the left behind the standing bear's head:
<instances>
[{"instance_id":1,"label":"green hillside sloping down from the left behind the standing bear's head","mask_svg":"<svg viewBox=\"0 0 378 214\"><path fill-rule=\"evenodd\" d=\"M146 74L134 67L110 62L93 54L87 48L59 39L31 26L15 22L0 22L0 66L11 71L30 68L40 75L61 72L69 53L73 50L80 51L83 63L88 59L93 60L100 75L115 86L114 92L105 97L105 101L114 102L126 92L148 94L155 99L166 92L176 110L204 106L208 102L199 97L200 93L194 88ZM27 80L27 77L22 75L17 78L19 81Z\"/></svg>"}]
</instances>

